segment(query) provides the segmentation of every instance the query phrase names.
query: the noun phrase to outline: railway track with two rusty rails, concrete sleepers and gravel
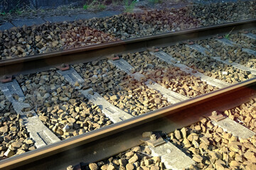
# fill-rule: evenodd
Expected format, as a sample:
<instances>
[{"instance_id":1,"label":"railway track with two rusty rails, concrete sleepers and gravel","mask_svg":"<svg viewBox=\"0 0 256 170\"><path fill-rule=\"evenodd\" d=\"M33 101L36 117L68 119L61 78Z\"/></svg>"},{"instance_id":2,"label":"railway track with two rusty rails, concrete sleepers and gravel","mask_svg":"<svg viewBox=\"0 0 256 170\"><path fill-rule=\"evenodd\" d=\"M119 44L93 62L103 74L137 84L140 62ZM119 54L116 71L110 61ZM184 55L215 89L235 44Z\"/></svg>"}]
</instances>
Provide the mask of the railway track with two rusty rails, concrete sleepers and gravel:
<instances>
[{"instance_id":1,"label":"railway track with two rusty rails, concrete sleepers and gravel","mask_svg":"<svg viewBox=\"0 0 256 170\"><path fill-rule=\"evenodd\" d=\"M250 33L242 33L241 28ZM220 38L231 29L229 40ZM255 145L255 116L250 113L255 109L251 100L256 81L254 33L255 20L250 20L1 61L1 73L16 76L0 84L4 113L0 168L65 169L79 162L85 162L79 165L85 168L90 162L142 145L142 133L148 131L161 131L159 135L169 140L167 145L180 147L176 152L182 151L188 166L199 169L202 164L210 168L212 157L205 154L215 150L201 146L202 141L209 142L205 138L197 137L197 143L190 140L191 130L200 139L212 132L209 128L214 137L220 133L238 136L233 142L251 137ZM218 116L208 118L213 111ZM179 128L189 131L188 136ZM208 146L220 149L216 142ZM144 156L163 156L157 149L146 148L147 152L137 147L146 152ZM227 155L222 157L227 159ZM161 161L161 168L174 167L168 160ZM230 167L232 161L228 159L222 167ZM235 161L232 166L240 166Z\"/></svg>"}]
</instances>

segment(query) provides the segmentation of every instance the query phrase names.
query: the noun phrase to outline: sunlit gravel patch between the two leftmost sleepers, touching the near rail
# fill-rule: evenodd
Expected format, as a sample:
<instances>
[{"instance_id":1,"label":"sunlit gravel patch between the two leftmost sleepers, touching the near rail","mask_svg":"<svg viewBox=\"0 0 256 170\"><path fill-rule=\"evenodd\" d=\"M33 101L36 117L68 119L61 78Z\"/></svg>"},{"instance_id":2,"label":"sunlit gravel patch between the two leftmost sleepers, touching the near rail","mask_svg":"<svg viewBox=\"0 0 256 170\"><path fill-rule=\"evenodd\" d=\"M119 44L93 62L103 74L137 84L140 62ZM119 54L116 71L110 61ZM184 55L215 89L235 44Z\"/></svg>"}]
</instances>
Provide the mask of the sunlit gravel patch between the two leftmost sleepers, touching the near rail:
<instances>
[{"instance_id":1,"label":"sunlit gravel patch between the two leftmost sleepers, touching the near rail","mask_svg":"<svg viewBox=\"0 0 256 170\"><path fill-rule=\"evenodd\" d=\"M65 89L63 89L65 91ZM81 94L58 105L38 108L39 118L61 140L112 124L99 106L87 102Z\"/></svg>"}]
</instances>

